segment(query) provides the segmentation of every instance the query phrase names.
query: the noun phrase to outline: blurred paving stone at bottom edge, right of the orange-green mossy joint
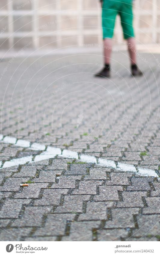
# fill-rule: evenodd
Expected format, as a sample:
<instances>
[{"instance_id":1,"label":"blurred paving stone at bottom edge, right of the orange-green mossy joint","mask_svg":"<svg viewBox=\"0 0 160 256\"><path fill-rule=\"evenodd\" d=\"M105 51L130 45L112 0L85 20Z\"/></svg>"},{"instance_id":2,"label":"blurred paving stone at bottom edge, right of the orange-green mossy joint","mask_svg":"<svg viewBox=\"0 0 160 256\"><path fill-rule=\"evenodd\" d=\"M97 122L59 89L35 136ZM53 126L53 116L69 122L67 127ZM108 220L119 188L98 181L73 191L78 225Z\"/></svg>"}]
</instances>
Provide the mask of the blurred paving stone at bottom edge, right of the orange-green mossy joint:
<instances>
[{"instance_id":1,"label":"blurred paving stone at bottom edge, right of the orange-green mossy joint","mask_svg":"<svg viewBox=\"0 0 160 256\"><path fill-rule=\"evenodd\" d=\"M128 236L125 229L101 229L97 234L97 241L122 241Z\"/></svg>"}]
</instances>

